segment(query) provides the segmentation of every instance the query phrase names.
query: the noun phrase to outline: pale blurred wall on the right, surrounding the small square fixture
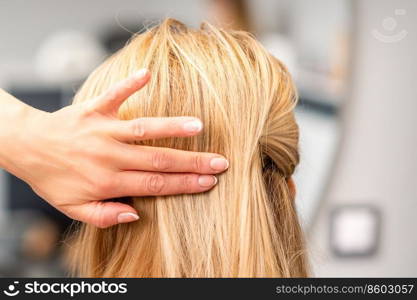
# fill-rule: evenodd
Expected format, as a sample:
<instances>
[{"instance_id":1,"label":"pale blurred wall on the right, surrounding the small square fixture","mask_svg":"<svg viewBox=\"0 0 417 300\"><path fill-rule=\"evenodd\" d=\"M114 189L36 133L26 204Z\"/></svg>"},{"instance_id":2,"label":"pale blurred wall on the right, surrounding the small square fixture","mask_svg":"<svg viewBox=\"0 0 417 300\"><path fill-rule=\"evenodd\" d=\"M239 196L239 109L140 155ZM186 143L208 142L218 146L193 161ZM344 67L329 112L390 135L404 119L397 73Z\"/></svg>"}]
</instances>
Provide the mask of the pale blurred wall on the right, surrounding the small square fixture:
<instances>
[{"instance_id":1,"label":"pale blurred wall on the right, surrounding the small square fixture","mask_svg":"<svg viewBox=\"0 0 417 300\"><path fill-rule=\"evenodd\" d=\"M344 110L344 137L332 182L311 235L317 276L417 276L417 2L356 1L353 89ZM406 15L395 16L395 9ZM376 39L395 16L408 35ZM385 31L385 33L387 33ZM337 259L329 251L329 211L362 203L382 213L376 255Z\"/></svg>"}]
</instances>

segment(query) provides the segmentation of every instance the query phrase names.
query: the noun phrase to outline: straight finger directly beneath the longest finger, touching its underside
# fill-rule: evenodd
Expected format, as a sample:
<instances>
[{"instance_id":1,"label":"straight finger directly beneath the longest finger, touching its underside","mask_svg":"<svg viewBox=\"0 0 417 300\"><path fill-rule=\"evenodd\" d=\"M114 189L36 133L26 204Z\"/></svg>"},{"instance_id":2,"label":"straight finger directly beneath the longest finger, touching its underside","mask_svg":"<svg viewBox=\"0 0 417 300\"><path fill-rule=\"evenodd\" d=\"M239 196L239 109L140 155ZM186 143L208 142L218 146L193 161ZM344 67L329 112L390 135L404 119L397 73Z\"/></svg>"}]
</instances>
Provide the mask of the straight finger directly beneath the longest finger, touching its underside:
<instances>
[{"instance_id":1,"label":"straight finger directly beneath the longest finger, touching its underside","mask_svg":"<svg viewBox=\"0 0 417 300\"><path fill-rule=\"evenodd\" d=\"M217 183L212 175L124 171L116 175L112 197L194 194Z\"/></svg>"}]
</instances>

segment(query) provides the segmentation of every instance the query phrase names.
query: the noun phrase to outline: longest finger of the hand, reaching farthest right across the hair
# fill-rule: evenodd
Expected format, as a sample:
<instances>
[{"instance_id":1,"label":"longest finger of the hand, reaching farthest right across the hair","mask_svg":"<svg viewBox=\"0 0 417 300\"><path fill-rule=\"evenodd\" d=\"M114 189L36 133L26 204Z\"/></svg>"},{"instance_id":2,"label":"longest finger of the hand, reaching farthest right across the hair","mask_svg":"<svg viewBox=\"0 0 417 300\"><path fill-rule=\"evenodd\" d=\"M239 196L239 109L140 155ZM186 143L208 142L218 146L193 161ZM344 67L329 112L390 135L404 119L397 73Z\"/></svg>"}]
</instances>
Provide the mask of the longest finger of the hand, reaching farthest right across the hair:
<instances>
[{"instance_id":1,"label":"longest finger of the hand, reaching farthest right across the hair","mask_svg":"<svg viewBox=\"0 0 417 300\"><path fill-rule=\"evenodd\" d=\"M218 154L122 144L115 164L120 170L217 174L229 167Z\"/></svg>"}]
</instances>

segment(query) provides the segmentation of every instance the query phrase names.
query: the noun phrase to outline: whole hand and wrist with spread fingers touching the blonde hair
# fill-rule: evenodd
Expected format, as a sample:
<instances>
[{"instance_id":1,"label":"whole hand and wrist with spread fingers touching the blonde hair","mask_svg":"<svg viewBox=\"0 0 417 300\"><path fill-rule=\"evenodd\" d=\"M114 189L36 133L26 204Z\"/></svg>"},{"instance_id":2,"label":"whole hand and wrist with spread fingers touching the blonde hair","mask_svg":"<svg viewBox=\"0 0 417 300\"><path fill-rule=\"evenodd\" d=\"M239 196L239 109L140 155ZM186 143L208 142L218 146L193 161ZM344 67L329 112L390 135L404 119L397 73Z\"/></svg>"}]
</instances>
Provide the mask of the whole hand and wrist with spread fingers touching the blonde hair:
<instances>
[{"instance_id":1,"label":"whole hand and wrist with spread fingers touching the blonde hair","mask_svg":"<svg viewBox=\"0 0 417 300\"><path fill-rule=\"evenodd\" d=\"M211 189L217 180L209 174L227 169L222 156L127 143L188 137L202 129L192 117L118 120L119 106L149 77L138 72L96 99L54 113L24 106L15 129L9 126L7 136L0 135L8 138L1 167L70 218L101 228L139 218L133 207L104 199Z\"/></svg>"}]
</instances>

